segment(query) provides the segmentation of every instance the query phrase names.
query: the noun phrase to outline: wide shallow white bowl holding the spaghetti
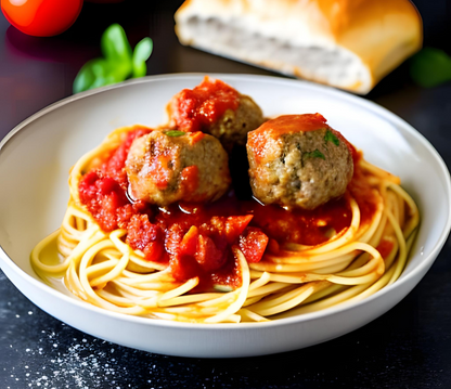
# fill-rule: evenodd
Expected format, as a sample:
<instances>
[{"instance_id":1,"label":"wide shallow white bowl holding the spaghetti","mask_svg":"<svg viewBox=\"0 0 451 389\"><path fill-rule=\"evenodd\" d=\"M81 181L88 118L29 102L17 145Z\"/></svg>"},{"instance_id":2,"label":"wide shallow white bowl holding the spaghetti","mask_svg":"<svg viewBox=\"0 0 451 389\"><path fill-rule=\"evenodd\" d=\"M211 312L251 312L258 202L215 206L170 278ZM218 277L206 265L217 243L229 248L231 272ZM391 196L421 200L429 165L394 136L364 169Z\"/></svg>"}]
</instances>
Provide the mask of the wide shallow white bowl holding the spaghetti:
<instances>
[{"instance_id":1,"label":"wide shallow white bowl holding the spaghetti","mask_svg":"<svg viewBox=\"0 0 451 389\"><path fill-rule=\"evenodd\" d=\"M450 231L450 176L434 147L405 121L363 99L298 80L210 75L253 96L267 116L321 113L365 158L400 176L421 210L421 228L401 277L370 298L268 323L186 324L108 312L52 288L29 262L33 247L60 226L69 168L113 129L165 121L165 106L203 75L146 77L88 91L33 115L0 143L0 265L34 303L102 339L151 352L230 358L315 345L349 333L398 303L425 275Z\"/></svg>"}]
</instances>

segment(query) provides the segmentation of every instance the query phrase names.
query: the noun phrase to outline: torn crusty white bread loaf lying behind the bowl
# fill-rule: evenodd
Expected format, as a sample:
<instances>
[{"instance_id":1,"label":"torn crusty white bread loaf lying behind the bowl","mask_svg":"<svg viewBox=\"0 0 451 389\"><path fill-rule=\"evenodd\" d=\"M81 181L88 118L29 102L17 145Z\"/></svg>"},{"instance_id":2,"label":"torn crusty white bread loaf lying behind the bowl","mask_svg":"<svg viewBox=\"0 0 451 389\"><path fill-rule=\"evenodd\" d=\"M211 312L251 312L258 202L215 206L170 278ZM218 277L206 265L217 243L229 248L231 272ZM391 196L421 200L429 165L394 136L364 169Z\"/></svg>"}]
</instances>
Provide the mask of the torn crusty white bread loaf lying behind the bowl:
<instances>
[{"instance_id":1,"label":"torn crusty white bread loaf lying behind the bowl","mask_svg":"<svg viewBox=\"0 0 451 389\"><path fill-rule=\"evenodd\" d=\"M360 94L423 40L409 0L186 0L175 18L183 44Z\"/></svg>"}]
</instances>

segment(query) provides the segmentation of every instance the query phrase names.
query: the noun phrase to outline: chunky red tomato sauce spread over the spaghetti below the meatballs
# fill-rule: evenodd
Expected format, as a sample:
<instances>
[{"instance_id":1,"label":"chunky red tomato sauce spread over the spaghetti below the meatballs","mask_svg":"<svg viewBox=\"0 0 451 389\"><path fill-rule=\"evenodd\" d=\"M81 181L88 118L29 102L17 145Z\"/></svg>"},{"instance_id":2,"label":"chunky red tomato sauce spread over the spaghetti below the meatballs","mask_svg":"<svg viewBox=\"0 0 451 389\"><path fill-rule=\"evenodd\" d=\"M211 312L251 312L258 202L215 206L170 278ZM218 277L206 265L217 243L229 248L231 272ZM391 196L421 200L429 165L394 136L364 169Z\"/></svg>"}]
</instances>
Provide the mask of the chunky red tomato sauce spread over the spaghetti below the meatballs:
<instances>
[{"instance_id":1,"label":"chunky red tomato sauce spread over the spaghetti below the meatballs","mask_svg":"<svg viewBox=\"0 0 451 389\"><path fill-rule=\"evenodd\" d=\"M248 262L258 262L270 239L279 245L318 245L350 225L352 215L345 198L314 210L296 211L262 206L253 199L239 200L233 191L210 204L157 208L132 202L127 195L125 161L132 141L150 131L136 127L128 132L99 168L82 177L79 196L103 231L127 230L126 243L142 250L147 260L168 264L176 280L198 276L197 289L203 290L214 285L237 287L241 276L233 246L240 247ZM196 167L183 171L186 190L195 185L196 174ZM375 195L359 174L349 189L365 222L375 211Z\"/></svg>"}]
</instances>

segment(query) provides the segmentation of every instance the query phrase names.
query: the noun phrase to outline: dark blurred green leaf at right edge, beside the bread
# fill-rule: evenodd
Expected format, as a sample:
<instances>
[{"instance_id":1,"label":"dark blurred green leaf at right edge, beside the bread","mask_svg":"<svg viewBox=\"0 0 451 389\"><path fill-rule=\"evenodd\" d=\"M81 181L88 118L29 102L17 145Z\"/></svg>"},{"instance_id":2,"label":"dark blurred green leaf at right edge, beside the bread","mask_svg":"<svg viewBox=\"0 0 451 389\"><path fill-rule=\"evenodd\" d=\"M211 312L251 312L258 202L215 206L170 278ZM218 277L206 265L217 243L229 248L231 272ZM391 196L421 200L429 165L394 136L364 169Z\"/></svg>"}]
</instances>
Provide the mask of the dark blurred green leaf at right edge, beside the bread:
<instances>
[{"instance_id":1,"label":"dark blurred green leaf at right edge, beside the bread","mask_svg":"<svg viewBox=\"0 0 451 389\"><path fill-rule=\"evenodd\" d=\"M442 50L424 48L410 61L412 79L424 88L451 80L451 57Z\"/></svg>"}]
</instances>

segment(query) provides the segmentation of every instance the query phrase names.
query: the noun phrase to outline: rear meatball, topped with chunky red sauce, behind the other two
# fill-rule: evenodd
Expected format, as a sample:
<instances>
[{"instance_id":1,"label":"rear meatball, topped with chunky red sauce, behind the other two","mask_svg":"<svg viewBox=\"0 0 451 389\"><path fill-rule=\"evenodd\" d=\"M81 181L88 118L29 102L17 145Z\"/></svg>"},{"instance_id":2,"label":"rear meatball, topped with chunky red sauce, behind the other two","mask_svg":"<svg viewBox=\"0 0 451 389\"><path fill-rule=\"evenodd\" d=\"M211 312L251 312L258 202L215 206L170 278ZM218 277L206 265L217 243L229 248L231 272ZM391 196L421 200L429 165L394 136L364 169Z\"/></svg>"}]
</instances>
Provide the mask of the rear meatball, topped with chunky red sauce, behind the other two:
<instances>
[{"instance_id":1,"label":"rear meatball, topped with chunky red sauce, behind the other two","mask_svg":"<svg viewBox=\"0 0 451 389\"><path fill-rule=\"evenodd\" d=\"M209 133L218 138L228 152L234 144L244 146L247 132L263 122L263 114L253 99L208 77L194 89L176 94L167 112L169 127Z\"/></svg>"}]
</instances>

